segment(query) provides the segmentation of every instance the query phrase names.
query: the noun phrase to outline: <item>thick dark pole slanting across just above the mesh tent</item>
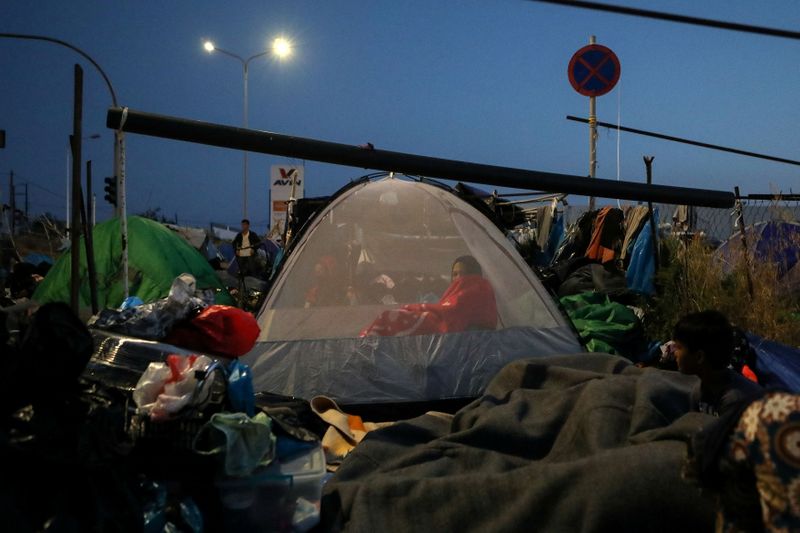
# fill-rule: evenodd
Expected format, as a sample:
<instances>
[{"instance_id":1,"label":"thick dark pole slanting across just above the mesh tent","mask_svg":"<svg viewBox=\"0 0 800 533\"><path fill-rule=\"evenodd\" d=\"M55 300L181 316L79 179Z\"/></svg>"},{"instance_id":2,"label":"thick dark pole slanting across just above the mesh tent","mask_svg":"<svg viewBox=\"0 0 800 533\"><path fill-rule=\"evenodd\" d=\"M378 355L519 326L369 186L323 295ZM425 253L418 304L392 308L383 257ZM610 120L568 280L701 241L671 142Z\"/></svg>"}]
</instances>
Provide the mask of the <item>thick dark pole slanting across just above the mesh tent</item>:
<instances>
[{"instance_id":1,"label":"thick dark pole slanting across just above the mesh tent","mask_svg":"<svg viewBox=\"0 0 800 533\"><path fill-rule=\"evenodd\" d=\"M727 191L647 185L646 183L591 179L569 174L483 165L292 137L268 131L143 113L131 109L126 109L125 121L121 124L122 116L122 108L109 109L106 126L112 129L118 129L121 126L123 131L153 137L429 178L533 191L702 207L728 208L733 206L735 200L733 192Z\"/></svg>"}]
</instances>

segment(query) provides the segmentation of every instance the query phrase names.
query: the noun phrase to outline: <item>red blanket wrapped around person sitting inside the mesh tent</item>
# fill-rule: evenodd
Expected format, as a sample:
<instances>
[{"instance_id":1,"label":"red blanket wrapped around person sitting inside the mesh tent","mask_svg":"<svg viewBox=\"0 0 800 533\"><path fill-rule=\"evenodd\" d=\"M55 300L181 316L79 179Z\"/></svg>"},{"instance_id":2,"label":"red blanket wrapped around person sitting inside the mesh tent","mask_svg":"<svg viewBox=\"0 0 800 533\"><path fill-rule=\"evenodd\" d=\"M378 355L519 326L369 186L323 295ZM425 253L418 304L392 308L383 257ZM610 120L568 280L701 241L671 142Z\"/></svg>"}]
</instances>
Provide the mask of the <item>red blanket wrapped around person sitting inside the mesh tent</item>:
<instances>
[{"instance_id":1,"label":"red blanket wrapped around person sitting inside the mesh tent","mask_svg":"<svg viewBox=\"0 0 800 533\"><path fill-rule=\"evenodd\" d=\"M406 304L384 311L364 328L367 335L427 335L497 327L497 303L492 286L482 276L461 276L437 304Z\"/></svg>"}]
</instances>

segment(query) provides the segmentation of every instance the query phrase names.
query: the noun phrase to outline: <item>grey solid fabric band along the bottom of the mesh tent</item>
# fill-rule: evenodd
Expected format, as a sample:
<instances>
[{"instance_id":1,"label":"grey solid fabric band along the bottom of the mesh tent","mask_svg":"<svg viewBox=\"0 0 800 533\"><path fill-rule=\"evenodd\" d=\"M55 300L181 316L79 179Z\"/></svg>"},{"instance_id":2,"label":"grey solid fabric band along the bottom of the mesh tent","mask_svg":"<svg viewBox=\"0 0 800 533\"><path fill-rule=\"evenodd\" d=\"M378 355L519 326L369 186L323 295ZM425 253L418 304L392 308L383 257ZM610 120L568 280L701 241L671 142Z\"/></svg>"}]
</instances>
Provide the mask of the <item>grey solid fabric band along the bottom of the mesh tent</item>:
<instances>
[{"instance_id":1,"label":"grey solid fabric band along the bottom of the mesh tent","mask_svg":"<svg viewBox=\"0 0 800 533\"><path fill-rule=\"evenodd\" d=\"M253 388L341 405L474 398L516 359L582 351L569 327L256 344Z\"/></svg>"}]
</instances>

